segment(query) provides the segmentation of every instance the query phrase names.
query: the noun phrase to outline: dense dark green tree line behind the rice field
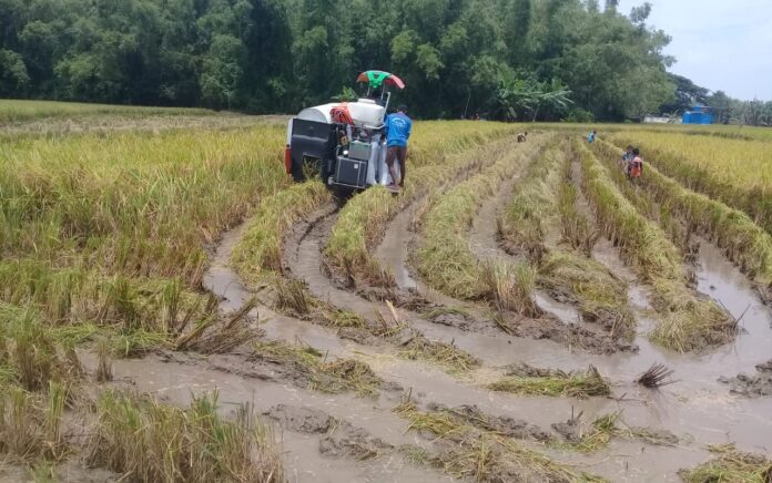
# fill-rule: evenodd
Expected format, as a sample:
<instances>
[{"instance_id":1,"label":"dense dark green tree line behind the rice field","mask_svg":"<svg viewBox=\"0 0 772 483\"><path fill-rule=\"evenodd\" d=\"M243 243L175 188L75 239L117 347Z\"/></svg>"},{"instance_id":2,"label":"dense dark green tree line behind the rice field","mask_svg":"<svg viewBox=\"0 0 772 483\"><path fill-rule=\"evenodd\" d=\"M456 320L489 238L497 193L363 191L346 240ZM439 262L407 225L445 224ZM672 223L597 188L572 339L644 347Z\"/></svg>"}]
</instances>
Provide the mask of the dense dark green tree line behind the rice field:
<instances>
[{"instance_id":1,"label":"dense dark green tree line behind the rice field","mask_svg":"<svg viewBox=\"0 0 772 483\"><path fill-rule=\"evenodd\" d=\"M616 0L0 0L0 97L292 113L407 83L418 116L620 121L676 102Z\"/></svg>"}]
</instances>

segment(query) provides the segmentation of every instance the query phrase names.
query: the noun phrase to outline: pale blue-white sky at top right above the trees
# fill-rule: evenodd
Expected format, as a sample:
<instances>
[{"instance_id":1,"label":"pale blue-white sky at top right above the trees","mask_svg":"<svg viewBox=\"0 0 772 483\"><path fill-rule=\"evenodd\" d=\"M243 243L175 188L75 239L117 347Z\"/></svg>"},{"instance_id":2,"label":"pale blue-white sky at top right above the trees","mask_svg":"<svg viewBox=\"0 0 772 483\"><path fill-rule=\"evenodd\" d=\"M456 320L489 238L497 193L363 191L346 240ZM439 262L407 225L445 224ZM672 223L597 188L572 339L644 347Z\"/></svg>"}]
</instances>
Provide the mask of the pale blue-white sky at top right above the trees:
<instances>
[{"instance_id":1,"label":"pale blue-white sky at top right above the trees","mask_svg":"<svg viewBox=\"0 0 772 483\"><path fill-rule=\"evenodd\" d=\"M619 11L643 1L621 0ZM648 1L647 24L672 38L671 72L732 97L772 101L772 0Z\"/></svg>"}]
</instances>

